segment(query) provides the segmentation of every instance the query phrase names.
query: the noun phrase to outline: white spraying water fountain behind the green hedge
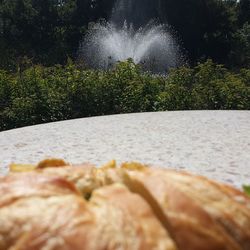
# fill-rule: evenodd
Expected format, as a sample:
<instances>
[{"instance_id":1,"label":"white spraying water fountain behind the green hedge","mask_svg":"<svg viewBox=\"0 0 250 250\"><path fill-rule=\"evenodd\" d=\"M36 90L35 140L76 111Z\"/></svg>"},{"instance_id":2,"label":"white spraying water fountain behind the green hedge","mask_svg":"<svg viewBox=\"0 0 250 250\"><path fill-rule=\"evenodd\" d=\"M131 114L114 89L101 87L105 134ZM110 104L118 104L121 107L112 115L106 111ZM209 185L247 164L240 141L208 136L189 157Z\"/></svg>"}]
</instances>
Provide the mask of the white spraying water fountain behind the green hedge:
<instances>
[{"instance_id":1,"label":"white spraying water fountain behind the green hedge","mask_svg":"<svg viewBox=\"0 0 250 250\"><path fill-rule=\"evenodd\" d=\"M127 23L132 14L132 1L118 0L109 22L90 27L80 49L88 66L107 69L128 58L152 72L178 66L182 57L170 28L155 21L135 28Z\"/></svg>"}]
</instances>

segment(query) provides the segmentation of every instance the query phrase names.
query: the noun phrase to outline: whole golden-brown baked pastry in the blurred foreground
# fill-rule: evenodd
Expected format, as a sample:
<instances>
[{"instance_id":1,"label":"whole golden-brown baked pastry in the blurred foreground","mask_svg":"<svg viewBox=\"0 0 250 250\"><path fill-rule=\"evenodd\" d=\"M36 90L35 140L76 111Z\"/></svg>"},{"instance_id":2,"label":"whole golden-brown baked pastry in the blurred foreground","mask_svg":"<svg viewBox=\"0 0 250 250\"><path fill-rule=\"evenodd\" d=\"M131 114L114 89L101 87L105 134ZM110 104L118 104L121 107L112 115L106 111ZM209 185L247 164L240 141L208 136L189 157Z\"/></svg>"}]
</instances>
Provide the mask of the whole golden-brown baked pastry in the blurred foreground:
<instances>
[{"instance_id":1,"label":"whole golden-brown baked pastry in the blurred foreground","mask_svg":"<svg viewBox=\"0 0 250 250\"><path fill-rule=\"evenodd\" d=\"M10 170L0 250L250 249L249 197L205 177L115 162Z\"/></svg>"}]
</instances>

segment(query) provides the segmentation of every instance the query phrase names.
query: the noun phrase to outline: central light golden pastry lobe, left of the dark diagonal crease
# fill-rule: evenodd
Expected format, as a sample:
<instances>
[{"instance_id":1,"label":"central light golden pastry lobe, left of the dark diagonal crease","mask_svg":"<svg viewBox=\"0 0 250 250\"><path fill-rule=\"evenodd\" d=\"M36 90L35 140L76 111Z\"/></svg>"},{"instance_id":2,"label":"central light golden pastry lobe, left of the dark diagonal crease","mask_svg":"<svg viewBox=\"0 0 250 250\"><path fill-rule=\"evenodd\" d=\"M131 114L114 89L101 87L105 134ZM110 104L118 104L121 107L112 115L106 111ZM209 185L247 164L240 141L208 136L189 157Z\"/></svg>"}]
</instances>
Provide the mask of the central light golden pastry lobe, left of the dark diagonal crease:
<instances>
[{"instance_id":1,"label":"central light golden pastry lobe, left of the dark diagonal crease","mask_svg":"<svg viewBox=\"0 0 250 250\"><path fill-rule=\"evenodd\" d=\"M100 241L108 242L107 249L119 249L124 243L124 249L131 250L177 249L147 202L124 185L97 189L90 204L95 208L98 228L102 231Z\"/></svg>"}]
</instances>

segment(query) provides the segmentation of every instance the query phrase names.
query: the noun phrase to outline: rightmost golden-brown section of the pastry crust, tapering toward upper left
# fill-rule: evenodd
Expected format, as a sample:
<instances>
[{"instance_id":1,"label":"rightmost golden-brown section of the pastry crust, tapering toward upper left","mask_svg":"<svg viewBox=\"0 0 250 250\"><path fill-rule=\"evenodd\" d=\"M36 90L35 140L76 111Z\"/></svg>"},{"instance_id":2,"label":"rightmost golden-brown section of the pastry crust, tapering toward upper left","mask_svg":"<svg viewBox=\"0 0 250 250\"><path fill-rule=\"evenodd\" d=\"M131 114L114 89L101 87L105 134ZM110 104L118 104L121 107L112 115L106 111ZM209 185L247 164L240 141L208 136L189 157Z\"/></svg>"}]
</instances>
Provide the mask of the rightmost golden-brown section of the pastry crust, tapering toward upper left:
<instances>
[{"instance_id":1,"label":"rightmost golden-brown section of the pastry crust, tapering toward upper left","mask_svg":"<svg viewBox=\"0 0 250 250\"><path fill-rule=\"evenodd\" d=\"M156 170L154 174L157 172L192 197L244 249L250 249L250 210L245 205L248 197L205 177L167 170Z\"/></svg>"}]
</instances>

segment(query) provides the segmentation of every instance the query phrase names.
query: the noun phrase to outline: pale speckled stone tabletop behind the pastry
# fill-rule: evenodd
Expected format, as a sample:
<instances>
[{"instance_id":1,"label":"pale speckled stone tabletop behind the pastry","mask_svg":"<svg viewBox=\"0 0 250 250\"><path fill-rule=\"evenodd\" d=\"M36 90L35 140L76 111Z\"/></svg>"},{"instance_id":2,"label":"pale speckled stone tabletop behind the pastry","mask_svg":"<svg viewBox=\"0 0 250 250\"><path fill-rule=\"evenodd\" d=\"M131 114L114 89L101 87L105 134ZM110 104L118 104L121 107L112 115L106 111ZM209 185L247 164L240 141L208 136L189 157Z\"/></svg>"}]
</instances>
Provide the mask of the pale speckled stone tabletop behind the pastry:
<instances>
[{"instance_id":1,"label":"pale speckled stone tabletop behind the pastry","mask_svg":"<svg viewBox=\"0 0 250 250\"><path fill-rule=\"evenodd\" d=\"M185 111L69 120L0 133L0 173L48 157L111 159L184 169L240 187L250 183L250 111Z\"/></svg>"}]
</instances>

